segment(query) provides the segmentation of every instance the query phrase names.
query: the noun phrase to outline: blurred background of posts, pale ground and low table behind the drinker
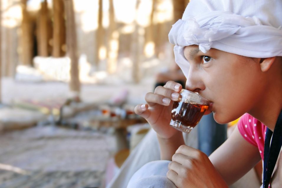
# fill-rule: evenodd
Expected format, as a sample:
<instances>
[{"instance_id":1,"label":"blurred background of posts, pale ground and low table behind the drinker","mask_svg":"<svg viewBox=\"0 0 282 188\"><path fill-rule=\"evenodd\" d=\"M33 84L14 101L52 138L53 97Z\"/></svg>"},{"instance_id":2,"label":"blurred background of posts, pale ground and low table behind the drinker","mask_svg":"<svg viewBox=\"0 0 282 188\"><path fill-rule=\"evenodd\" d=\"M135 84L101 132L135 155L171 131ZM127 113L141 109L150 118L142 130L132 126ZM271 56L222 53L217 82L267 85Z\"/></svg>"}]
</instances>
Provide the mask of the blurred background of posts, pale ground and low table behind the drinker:
<instances>
[{"instance_id":1,"label":"blurred background of posts, pale ground and low table behind the drinker","mask_svg":"<svg viewBox=\"0 0 282 188\"><path fill-rule=\"evenodd\" d=\"M0 187L105 187L185 83L168 42L188 0L0 0Z\"/></svg>"}]
</instances>

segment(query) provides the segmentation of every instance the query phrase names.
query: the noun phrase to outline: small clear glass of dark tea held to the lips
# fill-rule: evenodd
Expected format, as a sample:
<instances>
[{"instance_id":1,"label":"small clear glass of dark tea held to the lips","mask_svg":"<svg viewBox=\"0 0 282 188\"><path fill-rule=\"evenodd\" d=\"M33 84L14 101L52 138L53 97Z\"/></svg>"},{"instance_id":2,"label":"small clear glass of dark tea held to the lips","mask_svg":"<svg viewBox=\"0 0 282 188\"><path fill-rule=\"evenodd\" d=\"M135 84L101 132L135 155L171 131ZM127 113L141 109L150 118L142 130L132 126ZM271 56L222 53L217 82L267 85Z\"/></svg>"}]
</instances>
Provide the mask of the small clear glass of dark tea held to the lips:
<instances>
[{"instance_id":1,"label":"small clear glass of dark tea held to the lips","mask_svg":"<svg viewBox=\"0 0 282 188\"><path fill-rule=\"evenodd\" d=\"M180 99L173 102L170 126L189 133L199 123L209 104L210 101L201 95L182 89Z\"/></svg>"}]
</instances>

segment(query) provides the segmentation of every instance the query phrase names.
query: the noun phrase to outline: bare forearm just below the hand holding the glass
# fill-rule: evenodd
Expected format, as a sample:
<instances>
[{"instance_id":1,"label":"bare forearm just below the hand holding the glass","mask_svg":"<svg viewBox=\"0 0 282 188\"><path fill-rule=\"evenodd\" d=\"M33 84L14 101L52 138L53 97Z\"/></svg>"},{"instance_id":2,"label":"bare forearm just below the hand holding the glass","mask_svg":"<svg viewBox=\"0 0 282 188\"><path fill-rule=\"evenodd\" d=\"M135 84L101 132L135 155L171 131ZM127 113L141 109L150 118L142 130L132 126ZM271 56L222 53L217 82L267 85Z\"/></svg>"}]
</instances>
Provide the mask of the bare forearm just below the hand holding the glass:
<instances>
[{"instance_id":1,"label":"bare forearm just below the hand holding the glass","mask_svg":"<svg viewBox=\"0 0 282 188\"><path fill-rule=\"evenodd\" d=\"M182 132L178 132L176 135L169 139L164 139L158 136L158 141L160 144L160 159L170 160L175 154L179 146L185 144Z\"/></svg>"}]
</instances>

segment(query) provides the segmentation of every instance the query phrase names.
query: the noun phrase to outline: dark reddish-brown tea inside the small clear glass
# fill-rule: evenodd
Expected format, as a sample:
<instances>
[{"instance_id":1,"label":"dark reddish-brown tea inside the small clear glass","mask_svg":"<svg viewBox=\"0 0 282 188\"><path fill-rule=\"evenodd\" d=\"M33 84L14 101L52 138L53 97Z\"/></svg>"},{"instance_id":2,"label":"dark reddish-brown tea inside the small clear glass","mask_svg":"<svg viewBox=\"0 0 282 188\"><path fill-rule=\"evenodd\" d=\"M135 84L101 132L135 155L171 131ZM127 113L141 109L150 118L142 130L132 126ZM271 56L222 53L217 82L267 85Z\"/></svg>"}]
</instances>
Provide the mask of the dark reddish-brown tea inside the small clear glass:
<instances>
[{"instance_id":1,"label":"dark reddish-brown tea inside the small clear glass","mask_svg":"<svg viewBox=\"0 0 282 188\"><path fill-rule=\"evenodd\" d=\"M209 105L193 104L183 101L174 102L171 117L173 121L177 120L181 122L182 125L193 128L199 123L208 108Z\"/></svg>"}]
</instances>

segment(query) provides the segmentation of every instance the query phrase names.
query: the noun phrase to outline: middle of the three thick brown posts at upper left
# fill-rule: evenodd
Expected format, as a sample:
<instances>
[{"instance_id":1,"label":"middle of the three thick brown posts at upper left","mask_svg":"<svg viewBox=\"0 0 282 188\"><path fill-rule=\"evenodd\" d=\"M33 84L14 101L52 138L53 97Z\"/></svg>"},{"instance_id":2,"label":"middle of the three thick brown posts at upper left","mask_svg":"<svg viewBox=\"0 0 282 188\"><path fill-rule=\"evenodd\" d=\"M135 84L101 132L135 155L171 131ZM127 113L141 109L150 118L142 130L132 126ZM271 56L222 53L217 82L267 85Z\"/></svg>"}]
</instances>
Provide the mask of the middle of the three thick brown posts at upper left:
<instances>
[{"instance_id":1,"label":"middle of the three thick brown posts at upper left","mask_svg":"<svg viewBox=\"0 0 282 188\"><path fill-rule=\"evenodd\" d=\"M48 57L48 6L47 0L41 2L39 19L37 22L38 55Z\"/></svg>"}]
</instances>

